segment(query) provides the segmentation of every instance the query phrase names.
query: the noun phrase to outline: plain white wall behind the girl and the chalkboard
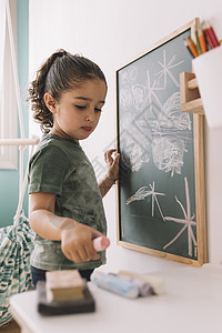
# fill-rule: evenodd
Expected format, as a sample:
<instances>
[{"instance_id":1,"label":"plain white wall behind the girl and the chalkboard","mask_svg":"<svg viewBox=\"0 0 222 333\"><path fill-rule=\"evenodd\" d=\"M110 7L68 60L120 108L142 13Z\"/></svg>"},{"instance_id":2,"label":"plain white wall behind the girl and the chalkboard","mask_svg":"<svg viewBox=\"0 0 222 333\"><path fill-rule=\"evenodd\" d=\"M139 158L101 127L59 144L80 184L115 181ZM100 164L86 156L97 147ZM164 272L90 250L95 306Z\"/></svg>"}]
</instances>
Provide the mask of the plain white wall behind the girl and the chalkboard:
<instances>
[{"instance_id":1,"label":"plain white wall behind the girl and the chalkboard","mask_svg":"<svg viewBox=\"0 0 222 333\"><path fill-rule=\"evenodd\" d=\"M82 53L104 71L109 93L97 131L83 142L89 158L103 159L103 152L115 139L114 71L152 43L182 27L193 18L209 19L222 37L221 0L30 0L30 73L59 48ZM37 127L30 125L31 132ZM206 213L210 261L222 262L222 130L205 128ZM181 264L150 256L115 244L115 191L104 199L112 245L104 270L120 269L150 272Z\"/></svg>"}]
</instances>

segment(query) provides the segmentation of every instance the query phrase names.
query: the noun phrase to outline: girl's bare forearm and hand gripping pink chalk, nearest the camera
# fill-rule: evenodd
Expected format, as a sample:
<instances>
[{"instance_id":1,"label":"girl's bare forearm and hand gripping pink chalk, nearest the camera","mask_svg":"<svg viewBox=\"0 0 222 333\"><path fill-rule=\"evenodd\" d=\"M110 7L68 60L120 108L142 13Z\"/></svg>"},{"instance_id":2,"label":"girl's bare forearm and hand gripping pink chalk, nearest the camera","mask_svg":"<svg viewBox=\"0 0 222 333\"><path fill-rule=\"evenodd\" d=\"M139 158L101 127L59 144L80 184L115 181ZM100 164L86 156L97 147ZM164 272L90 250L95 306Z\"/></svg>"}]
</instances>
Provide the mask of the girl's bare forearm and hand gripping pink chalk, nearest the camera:
<instances>
[{"instance_id":1,"label":"girl's bare forearm and hand gripping pink chalk, nearest the camera","mask_svg":"<svg viewBox=\"0 0 222 333\"><path fill-rule=\"evenodd\" d=\"M77 263L97 260L100 255L92 245L92 239L102 235L95 229L54 214L56 194L31 193L29 222L41 238L61 241L63 254Z\"/></svg>"}]
</instances>

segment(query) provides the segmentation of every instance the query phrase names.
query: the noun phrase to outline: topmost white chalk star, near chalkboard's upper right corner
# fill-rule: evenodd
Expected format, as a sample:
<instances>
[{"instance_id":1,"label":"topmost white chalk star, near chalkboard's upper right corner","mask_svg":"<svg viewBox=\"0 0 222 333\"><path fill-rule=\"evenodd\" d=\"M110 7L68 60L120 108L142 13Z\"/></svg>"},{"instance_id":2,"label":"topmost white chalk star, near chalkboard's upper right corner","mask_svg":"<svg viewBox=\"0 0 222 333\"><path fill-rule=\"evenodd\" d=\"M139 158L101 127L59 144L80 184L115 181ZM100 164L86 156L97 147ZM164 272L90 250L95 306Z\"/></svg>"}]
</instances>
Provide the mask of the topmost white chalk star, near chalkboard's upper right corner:
<instances>
[{"instance_id":1,"label":"topmost white chalk star, near chalkboard's upper right corner","mask_svg":"<svg viewBox=\"0 0 222 333\"><path fill-rule=\"evenodd\" d=\"M181 64L183 62L180 61L178 63L174 63L175 62L175 54L170 59L170 61L167 63L167 54L165 54L165 50L163 50L163 62L161 61L158 61L158 63L162 67L162 70L159 71L158 73L155 73L155 75L159 75L158 77L158 84L160 84L160 81L161 81L161 78L163 77L163 87L165 88L167 87L167 81L168 81L168 75L171 78L171 80L173 81L173 83L176 85L176 87L180 87L180 83L178 82L178 80L173 77L173 74L171 73L171 69L174 68L174 67L178 67L179 64Z\"/></svg>"}]
</instances>

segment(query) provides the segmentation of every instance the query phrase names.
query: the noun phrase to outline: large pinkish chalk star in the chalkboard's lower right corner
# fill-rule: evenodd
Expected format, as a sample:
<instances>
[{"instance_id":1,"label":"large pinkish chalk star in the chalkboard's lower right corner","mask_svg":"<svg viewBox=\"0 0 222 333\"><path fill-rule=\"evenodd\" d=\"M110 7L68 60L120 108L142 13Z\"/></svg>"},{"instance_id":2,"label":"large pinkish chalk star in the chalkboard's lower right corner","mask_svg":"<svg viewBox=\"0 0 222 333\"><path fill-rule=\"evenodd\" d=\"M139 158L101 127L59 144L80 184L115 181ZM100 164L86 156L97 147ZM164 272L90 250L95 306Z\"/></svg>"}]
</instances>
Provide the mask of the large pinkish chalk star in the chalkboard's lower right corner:
<instances>
[{"instance_id":1,"label":"large pinkish chalk star in the chalkboard's lower right corner","mask_svg":"<svg viewBox=\"0 0 222 333\"><path fill-rule=\"evenodd\" d=\"M176 198L175 195L175 201L178 202L178 204L180 205L184 219L176 219L176 218L170 218L170 216L164 216L164 219L167 221L173 221L175 223L181 223L183 224L183 228L176 233L176 235L168 243L163 246L163 249L165 250L167 248L169 248L171 244L173 244L179 238L180 235L188 230L188 254L190 256L193 255L193 245L196 249L196 240L195 236L193 234L193 229L192 226L196 228L196 222L193 221L194 220L194 214L191 216L191 204L190 204L190 193L189 193L189 184L188 184L188 179L184 178L184 182L185 182L185 198L186 198L186 211L184 209L184 206L182 205L181 201Z\"/></svg>"}]
</instances>

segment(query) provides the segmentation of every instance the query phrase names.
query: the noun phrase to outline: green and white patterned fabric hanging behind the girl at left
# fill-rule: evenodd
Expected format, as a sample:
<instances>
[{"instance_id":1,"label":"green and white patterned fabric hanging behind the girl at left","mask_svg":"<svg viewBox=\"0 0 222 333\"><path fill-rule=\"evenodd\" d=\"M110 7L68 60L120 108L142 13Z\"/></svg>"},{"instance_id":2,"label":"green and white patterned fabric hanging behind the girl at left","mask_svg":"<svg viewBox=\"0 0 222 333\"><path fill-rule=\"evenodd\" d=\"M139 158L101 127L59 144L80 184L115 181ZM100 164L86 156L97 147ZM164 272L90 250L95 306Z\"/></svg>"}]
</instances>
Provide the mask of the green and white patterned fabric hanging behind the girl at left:
<instances>
[{"instance_id":1,"label":"green and white patterned fabric hanging behind the girl at left","mask_svg":"<svg viewBox=\"0 0 222 333\"><path fill-rule=\"evenodd\" d=\"M32 286L30 254L34 233L21 214L18 226L0 229L0 326L11 320L9 297Z\"/></svg>"}]
</instances>

